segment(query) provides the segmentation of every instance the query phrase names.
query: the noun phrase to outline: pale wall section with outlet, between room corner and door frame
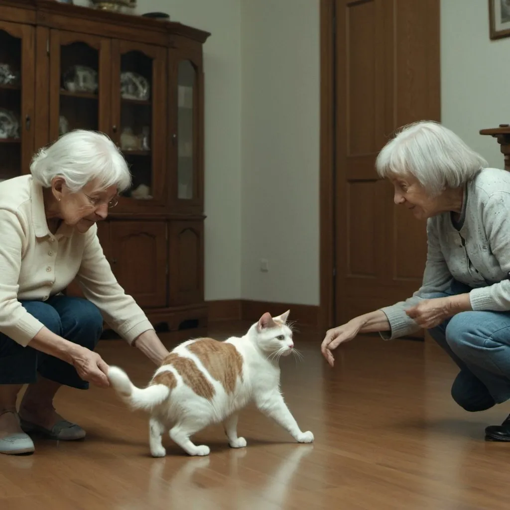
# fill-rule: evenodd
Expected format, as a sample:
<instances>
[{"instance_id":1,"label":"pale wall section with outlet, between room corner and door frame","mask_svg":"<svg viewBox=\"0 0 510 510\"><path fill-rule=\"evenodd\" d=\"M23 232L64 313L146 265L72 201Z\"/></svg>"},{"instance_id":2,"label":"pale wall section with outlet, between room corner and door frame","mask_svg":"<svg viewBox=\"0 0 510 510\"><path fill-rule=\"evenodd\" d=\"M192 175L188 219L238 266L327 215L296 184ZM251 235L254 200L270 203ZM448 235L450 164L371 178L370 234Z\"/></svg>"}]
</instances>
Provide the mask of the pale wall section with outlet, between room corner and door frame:
<instances>
[{"instance_id":1,"label":"pale wall section with outlet, between room corner and door frame","mask_svg":"<svg viewBox=\"0 0 510 510\"><path fill-rule=\"evenodd\" d=\"M319 1L242 0L241 44L242 297L318 304Z\"/></svg>"}]
</instances>

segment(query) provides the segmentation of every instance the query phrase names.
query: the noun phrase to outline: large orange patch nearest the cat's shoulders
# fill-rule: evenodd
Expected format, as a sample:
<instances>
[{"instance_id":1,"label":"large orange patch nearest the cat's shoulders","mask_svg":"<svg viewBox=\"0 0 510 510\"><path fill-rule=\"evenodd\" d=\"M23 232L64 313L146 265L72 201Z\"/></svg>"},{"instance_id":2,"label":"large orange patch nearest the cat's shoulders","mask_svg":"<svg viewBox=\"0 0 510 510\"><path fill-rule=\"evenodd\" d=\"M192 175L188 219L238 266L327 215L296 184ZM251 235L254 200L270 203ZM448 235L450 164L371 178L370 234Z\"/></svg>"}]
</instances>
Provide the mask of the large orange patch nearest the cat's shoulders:
<instances>
[{"instance_id":1,"label":"large orange patch nearest the cat's shoulders","mask_svg":"<svg viewBox=\"0 0 510 510\"><path fill-rule=\"evenodd\" d=\"M243 376L243 359L234 345L212 338L200 338L189 344L188 350L220 382L227 394L234 393L237 378L242 379Z\"/></svg>"}]
</instances>

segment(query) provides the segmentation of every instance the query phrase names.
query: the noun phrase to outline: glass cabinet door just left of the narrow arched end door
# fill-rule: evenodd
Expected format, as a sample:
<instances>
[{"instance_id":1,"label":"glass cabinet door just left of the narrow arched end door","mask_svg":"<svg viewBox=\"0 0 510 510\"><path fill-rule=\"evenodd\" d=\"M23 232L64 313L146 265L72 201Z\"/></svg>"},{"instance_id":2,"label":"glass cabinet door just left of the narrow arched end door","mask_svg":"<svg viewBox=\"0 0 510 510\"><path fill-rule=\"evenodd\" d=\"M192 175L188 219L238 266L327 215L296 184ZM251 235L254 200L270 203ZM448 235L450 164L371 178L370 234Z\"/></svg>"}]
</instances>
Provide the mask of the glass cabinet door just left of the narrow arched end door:
<instances>
[{"instance_id":1,"label":"glass cabinet door just left of the narrow arched end door","mask_svg":"<svg viewBox=\"0 0 510 510\"><path fill-rule=\"evenodd\" d=\"M164 204L166 52L159 46L113 42L114 140L132 175L116 211Z\"/></svg>"}]
</instances>

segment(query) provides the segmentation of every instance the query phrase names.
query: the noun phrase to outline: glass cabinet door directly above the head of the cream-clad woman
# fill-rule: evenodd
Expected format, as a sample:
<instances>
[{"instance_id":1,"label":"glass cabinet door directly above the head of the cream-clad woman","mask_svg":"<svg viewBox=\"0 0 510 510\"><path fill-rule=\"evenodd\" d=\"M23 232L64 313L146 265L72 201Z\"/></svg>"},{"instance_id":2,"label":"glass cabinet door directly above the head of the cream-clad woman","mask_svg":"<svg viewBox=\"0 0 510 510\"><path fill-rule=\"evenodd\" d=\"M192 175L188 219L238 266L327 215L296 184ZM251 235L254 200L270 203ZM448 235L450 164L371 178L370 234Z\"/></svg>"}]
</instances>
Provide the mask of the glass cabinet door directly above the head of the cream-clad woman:
<instances>
[{"instance_id":1,"label":"glass cabinet door directly above the head of the cream-clad woman","mask_svg":"<svg viewBox=\"0 0 510 510\"><path fill-rule=\"evenodd\" d=\"M52 30L50 49L50 141L75 130L109 134L108 39Z\"/></svg>"}]
</instances>

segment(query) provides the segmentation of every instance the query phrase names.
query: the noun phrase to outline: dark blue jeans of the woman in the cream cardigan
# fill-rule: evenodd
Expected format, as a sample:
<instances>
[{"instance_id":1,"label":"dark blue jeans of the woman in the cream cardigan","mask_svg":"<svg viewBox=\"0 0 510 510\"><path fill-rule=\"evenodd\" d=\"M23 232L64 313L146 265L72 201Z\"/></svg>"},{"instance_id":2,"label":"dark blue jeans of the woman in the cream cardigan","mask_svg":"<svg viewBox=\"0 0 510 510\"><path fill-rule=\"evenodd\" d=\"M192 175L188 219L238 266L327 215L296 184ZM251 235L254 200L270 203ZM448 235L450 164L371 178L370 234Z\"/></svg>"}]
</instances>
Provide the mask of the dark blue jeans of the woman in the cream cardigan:
<instances>
[{"instance_id":1,"label":"dark blue jeans of the woman in the cream cardigan","mask_svg":"<svg viewBox=\"0 0 510 510\"><path fill-rule=\"evenodd\" d=\"M94 350L103 331L103 317L90 301L57 295L47 301L20 302L56 335ZM72 388L89 387L72 365L0 334L0 384L31 384L36 382L37 373Z\"/></svg>"}]
</instances>

